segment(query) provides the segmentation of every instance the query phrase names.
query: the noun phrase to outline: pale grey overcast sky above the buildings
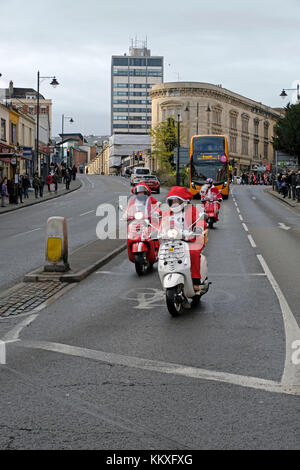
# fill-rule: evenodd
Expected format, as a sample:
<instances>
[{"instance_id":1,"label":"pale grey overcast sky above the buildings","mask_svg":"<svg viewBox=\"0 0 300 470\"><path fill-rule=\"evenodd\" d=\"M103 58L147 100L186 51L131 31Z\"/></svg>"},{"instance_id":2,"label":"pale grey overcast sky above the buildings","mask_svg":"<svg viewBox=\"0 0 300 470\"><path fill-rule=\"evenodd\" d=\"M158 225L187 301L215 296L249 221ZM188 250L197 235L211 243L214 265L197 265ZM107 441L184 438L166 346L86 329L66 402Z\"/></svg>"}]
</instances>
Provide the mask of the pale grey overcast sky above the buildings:
<instances>
[{"instance_id":1,"label":"pale grey overcast sky above the buildings","mask_svg":"<svg viewBox=\"0 0 300 470\"><path fill-rule=\"evenodd\" d=\"M0 33L0 87L36 88L38 70L59 81L41 84L54 135L62 114L75 121L66 131L109 134L111 56L135 37L164 56L165 82L222 84L273 107L300 82L300 0L0 0Z\"/></svg>"}]
</instances>

